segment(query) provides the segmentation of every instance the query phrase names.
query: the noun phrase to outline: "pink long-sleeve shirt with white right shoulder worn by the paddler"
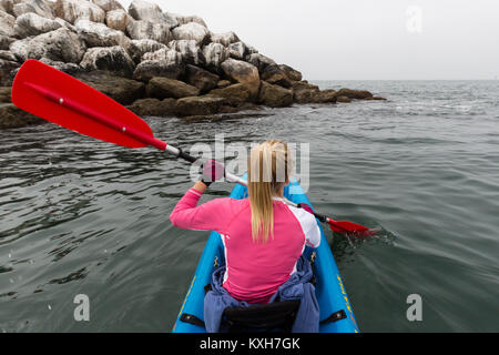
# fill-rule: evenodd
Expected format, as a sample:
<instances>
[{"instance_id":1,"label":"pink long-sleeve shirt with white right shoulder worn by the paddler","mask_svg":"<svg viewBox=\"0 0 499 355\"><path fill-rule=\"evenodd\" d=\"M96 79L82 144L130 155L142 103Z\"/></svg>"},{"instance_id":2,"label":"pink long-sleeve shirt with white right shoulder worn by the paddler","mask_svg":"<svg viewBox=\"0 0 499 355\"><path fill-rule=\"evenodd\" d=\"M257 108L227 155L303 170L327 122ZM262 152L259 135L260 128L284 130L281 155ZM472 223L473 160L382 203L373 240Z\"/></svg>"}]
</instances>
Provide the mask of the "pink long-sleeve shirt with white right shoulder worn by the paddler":
<instances>
[{"instance_id":1,"label":"pink long-sleeve shirt with white right shoulder worn by the paddler","mask_svg":"<svg viewBox=\"0 0 499 355\"><path fill-rule=\"evenodd\" d=\"M249 200L215 199L198 206L201 193L189 190L173 209L173 225L216 231L225 247L224 288L236 300L268 303L296 272L305 245L317 247L320 230L313 214L274 199L274 237L266 244L252 237Z\"/></svg>"}]
</instances>

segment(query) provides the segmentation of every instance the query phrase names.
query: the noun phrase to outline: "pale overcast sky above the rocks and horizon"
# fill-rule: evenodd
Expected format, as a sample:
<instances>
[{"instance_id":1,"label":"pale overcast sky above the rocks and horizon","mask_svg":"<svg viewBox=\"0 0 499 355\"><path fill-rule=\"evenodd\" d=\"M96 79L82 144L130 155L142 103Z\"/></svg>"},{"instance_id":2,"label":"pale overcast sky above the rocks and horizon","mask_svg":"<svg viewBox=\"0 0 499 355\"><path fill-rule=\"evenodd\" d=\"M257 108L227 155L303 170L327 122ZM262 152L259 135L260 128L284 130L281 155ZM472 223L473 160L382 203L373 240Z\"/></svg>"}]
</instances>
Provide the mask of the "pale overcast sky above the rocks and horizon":
<instances>
[{"instance_id":1,"label":"pale overcast sky above the rocks and horizon","mask_svg":"<svg viewBox=\"0 0 499 355\"><path fill-rule=\"evenodd\" d=\"M149 1L234 31L309 80L499 78L498 0Z\"/></svg>"}]
</instances>

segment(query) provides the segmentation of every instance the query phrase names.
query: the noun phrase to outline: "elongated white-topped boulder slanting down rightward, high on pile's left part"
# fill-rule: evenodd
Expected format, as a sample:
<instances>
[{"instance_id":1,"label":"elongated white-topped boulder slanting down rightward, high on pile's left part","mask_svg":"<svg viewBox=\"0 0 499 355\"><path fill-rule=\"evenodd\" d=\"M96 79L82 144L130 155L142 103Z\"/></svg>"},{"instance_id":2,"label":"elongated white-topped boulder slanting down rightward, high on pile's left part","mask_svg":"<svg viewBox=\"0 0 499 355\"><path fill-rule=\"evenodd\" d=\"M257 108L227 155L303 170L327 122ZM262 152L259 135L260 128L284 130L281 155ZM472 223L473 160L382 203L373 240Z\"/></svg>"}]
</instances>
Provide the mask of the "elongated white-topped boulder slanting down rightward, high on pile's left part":
<instances>
[{"instance_id":1,"label":"elongated white-topped boulder slanting down rightward, high on pile's left part","mask_svg":"<svg viewBox=\"0 0 499 355\"><path fill-rule=\"evenodd\" d=\"M125 50L130 47L131 40L122 31L110 29L104 23L79 20L74 28L88 47L121 45Z\"/></svg>"}]
</instances>

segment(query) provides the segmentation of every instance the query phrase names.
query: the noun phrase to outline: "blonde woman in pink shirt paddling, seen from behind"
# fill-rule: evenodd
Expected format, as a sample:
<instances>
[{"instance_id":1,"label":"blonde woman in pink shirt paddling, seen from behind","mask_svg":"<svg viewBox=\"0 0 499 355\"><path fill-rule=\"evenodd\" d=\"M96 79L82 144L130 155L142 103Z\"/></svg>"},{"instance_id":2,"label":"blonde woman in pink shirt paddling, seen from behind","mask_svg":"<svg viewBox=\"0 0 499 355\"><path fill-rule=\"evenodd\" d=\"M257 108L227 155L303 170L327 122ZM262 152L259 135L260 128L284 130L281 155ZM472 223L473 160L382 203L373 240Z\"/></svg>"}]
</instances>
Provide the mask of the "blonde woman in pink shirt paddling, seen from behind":
<instances>
[{"instance_id":1,"label":"blonde woman in pink shirt paddling, seen from behind","mask_svg":"<svg viewBox=\"0 0 499 355\"><path fill-rule=\"evenodd\" d=\"M268 303L296 272L306 245L317 247L320 231L307 209L284 202L293 160L287 144L267 141L255 146L248 160L248 199L215 199L197 205L217 169L210 161L179 201L170 220L181 229L216 231L225 246L223 287L237 301Z\"/></svg>"}]
</instances>

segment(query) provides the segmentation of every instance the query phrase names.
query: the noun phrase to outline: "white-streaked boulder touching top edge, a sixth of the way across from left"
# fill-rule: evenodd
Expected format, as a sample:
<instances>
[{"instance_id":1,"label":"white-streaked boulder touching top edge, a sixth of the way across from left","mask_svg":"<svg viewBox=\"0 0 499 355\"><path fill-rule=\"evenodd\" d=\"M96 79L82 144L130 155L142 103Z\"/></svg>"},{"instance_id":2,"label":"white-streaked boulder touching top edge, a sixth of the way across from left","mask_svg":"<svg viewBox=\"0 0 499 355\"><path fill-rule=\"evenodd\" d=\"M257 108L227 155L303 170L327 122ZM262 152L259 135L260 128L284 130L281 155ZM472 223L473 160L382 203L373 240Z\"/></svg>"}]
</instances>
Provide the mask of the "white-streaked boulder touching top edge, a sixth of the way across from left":
<instances>
[{"instance_id":1,"label":"white-streaked boulder touching top edge, a sixth of the way across from left","mask_svg":"<svg viewBox=\"0 0 499 355\"><path fill-rule=\"evenodd\" d=\"M53 13L74 24L77 20L104 22L105 11L95 3L82 0L57 0Z\"/></svg>"}]
</instances>

